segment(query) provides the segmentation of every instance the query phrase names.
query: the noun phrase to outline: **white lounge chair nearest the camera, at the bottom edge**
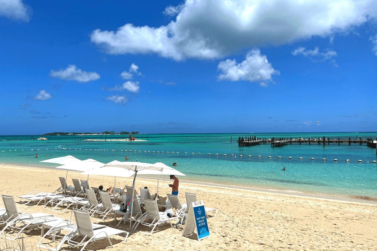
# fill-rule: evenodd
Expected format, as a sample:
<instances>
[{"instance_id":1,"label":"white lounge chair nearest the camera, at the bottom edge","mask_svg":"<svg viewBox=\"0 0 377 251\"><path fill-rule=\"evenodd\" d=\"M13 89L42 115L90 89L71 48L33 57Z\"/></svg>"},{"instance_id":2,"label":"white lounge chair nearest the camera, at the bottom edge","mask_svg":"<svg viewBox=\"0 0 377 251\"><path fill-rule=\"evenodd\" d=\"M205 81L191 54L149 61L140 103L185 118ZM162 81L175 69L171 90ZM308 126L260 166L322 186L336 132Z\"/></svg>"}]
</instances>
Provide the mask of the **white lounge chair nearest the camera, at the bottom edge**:
<instances>
[{"instance_id":1,"label":"white lounge chair nearest the camera, at the bottom edge","mask_svg":"<svg viewBox=\"0 0 377 251\"><path fill-rule=\"evenodd\" d=\"M79 246L82 246L80 249L81 251L90 243L104 239L106 238L109 241L109 244L111 247L113 247L111 240L109 236L113 235L119 235L119 234L125 234L124 242L126 242L127 237L129 235L128 232L119 230L116 228L107 227L104 225L98 225L98 224L92 224L92 221L90 220L90 215L88 211L83 210L73 210L76 225L69 225L67 227L62 228L50 228L49 231L44 234L40 242L38 243L38 246L41 248L47 248L50 250L59 251L59 249L64 245L64 243L67 243L70 248L76 248ZM64 235L62 239L60 240L59 244L56 245L56 248L52 249L47 246L41 245L41 241L47 236L52 235L53 237L60 236L59 233L62 229L66 228L72 229L68 232L68 234ZM78 238L81 237L81 238Z\"/></svg>"}]
</instances>

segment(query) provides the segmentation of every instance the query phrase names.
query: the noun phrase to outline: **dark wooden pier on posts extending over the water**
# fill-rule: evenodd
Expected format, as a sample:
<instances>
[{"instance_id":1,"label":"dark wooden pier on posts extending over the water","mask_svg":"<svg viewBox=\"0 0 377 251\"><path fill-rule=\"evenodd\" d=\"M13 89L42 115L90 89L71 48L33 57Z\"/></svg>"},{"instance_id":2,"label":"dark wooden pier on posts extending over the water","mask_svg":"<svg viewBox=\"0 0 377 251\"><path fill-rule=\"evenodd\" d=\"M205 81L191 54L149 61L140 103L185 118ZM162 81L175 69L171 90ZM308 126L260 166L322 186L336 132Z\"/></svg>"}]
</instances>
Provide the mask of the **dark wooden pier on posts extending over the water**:
<instances>
[{"instance_id":1,"label":"dark wooden pier on posts extending over the water","mask_svg":"<svg viewBox=\"0 0 377 251\"><path fill-rule=\"evenodd\" d=\"M292 144L315 144L315 145L330 145L331 144L357 144L357 145L363 145L366 144L367 146L376 149L376 154L377 154L377 138L376 140L373 140L372 138L367 138L367 139L362 139L362 138L357 138L351 139L350 137L348 139L341 139L340 137L338 138L257 138L256 136L251 136L251 137L238 137L238 146L256 146L256 145L261 145L261 144L271 144L271 146L286 146L286 145L292 145Z\"/></svg>"}]
</instances>

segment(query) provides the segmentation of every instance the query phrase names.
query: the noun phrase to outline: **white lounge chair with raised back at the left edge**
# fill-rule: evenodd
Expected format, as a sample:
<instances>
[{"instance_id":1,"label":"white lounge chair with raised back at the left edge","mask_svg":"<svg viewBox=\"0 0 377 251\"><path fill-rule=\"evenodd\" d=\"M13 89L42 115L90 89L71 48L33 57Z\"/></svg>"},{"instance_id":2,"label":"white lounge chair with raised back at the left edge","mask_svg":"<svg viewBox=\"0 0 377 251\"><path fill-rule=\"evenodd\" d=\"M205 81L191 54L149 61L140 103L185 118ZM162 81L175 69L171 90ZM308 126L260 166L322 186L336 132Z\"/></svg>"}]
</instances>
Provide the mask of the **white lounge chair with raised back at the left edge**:
<instances>
[{"instance_id":1,"label":"white lounge chair with raised back at the left edge","mask_svg":"<svg viewBox=\"0 0 377 251\"><path fill-rule=\"evenodd\" d=\"M2 223L6 224L0 231L0 236L5 233L5 230L12 230L16 233L13 238L7 237L6 239L15 240L18 235L23 233L27 228L40 227L43 222L55 221L57 218L52 214L46 213L21 213L17 210L16 203L13 196L2 195L2 199L5 205L6 213L2 216Z\"/></svg>"}]
</instances>

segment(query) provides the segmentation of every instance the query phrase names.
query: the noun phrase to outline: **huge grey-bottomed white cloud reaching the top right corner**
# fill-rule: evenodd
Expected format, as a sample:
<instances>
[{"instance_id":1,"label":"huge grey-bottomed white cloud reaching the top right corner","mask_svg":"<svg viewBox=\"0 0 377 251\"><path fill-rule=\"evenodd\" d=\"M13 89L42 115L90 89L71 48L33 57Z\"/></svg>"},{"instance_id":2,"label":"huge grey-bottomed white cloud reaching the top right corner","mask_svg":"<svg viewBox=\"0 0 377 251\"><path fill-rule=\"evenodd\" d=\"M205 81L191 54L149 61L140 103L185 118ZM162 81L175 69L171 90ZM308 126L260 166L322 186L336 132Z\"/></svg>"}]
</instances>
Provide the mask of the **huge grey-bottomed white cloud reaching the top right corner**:
<instances>
[{"instance_id":1,"label":"huge grey-bottomed white cloud reaching the top right corner","mask_svg":"<svg viewBox=\"0 0 377 251\"><path fill-rule=\"evenodd\" d=\"M175 19L160 27L127 23L117 30L96 29L91 41L110 54L222 58L243 48L351 30L375 20L377 4L375 0L186 0L164 13Z\"/></svg>"}]
</instances>

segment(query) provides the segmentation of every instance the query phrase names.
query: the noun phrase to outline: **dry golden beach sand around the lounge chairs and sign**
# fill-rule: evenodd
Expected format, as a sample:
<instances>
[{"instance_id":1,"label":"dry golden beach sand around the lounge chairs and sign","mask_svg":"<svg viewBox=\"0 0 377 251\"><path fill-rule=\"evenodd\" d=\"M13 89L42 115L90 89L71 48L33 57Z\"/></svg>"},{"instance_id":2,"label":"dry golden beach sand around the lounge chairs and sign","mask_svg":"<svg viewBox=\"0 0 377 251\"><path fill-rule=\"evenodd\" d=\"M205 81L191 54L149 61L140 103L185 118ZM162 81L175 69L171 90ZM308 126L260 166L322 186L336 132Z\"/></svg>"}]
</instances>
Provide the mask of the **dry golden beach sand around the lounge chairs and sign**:
<instances>
[{"instance_id":1,"label":"dry golden beach sand around the lounge chairs and sign","mask_svg":"<svg viewBox=\"0 0 377 251\"><path fill-rule=\"evenodd\" d=\"M58 176L66 172L55 169L16 167L0 165L0 193L23 195L31 190L54 192L60 186ZM68 173L71 178L86 179L77 172ZM117 186L131 185L130 178L117 178ZM113 184L113 178L90 176L90 186L104 187ZM160 195L169 193L170 181L160 181ZM156 181L136 179L136 187L148 186L156 192ZM139 227L131 231L126 243L122 237L112 238L114 248L100 240L87 250L377 250L377 205L330 199L310 198L250 191L243 189L189 184L181 181L179 199L185 202L184 192L197 194L207 207L218 208L216 218L208 219L211 236L198 242L193 237L182 237L182 231L170 228L169 224L156 228L157 233L145 235L149 228ZM0 206L3 207L2 201ZM66 213L56 213L43 206L17 204L22 212L46 212L69 218ZM120 219L120 218L118 218ZM92 218L93 222L98 222ZM115 227L113 219L105 224ZM128 231L128 225L120 228ZM39 250L35 243L40 231L23 235L26 250ZM18 241L8 241L8 246L17 246ZM0 250L5 239L0 239ZM43 249L46 250L46 249ZM76 249L62 249L76 250ZM80 249L77 249L80 250Z\"/></svg>"}]
</instances>

